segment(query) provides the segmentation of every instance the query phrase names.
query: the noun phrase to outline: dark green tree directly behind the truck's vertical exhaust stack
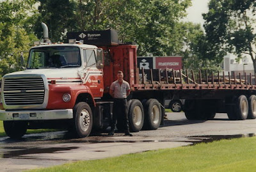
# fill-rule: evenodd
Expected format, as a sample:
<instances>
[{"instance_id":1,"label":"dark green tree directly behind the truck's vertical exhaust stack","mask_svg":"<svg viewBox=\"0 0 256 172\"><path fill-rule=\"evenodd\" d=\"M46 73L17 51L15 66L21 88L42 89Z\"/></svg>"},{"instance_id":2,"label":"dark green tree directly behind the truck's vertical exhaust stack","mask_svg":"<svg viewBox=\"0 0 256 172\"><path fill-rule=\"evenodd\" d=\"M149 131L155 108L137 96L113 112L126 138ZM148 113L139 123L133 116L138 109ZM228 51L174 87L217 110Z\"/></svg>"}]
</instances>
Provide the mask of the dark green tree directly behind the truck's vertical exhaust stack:
<instances>
[{"instance_id":1,"label":"dark green tree directly behind the truck's vertical exhaust stack","mask_svg":"<svg viewBox=\"0 0 256 172\"><path fill-rule=\"evenodd\" d=\"M67 31L76 30L74 20L75 3L69 0L38 0L38 14L34 17L33 29L38 38L42 38L43 29L41 22L49 27L49 37L52 42L63 42Z\"/></svg>"}]
</instances>

